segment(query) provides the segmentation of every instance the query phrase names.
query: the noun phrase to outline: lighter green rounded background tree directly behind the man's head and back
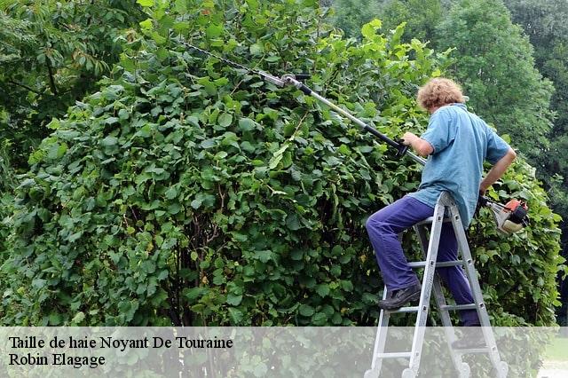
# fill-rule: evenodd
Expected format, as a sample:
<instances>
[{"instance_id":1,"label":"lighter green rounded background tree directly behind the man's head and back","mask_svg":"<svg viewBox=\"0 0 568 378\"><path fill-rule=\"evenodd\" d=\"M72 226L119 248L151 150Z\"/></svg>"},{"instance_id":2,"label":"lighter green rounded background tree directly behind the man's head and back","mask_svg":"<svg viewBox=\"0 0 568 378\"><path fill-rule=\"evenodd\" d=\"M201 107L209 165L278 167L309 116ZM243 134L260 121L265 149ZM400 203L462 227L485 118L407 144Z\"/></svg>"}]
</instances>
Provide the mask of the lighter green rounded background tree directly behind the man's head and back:
<instances>
[{"instance_id":1,"label":"lighter green rounded background tree directly behind the man's head and back","mask_svg":"<svg viewBox=\"0 0 568 378\"><path fill-rule=\"evenodd\" d=\"M455 47L451 72L474 111L537 161L548 149L553 86L534 67L533 48L507 8L499 1L455 3L438 28L437 46Z\"/></svg>"}]
</instances>

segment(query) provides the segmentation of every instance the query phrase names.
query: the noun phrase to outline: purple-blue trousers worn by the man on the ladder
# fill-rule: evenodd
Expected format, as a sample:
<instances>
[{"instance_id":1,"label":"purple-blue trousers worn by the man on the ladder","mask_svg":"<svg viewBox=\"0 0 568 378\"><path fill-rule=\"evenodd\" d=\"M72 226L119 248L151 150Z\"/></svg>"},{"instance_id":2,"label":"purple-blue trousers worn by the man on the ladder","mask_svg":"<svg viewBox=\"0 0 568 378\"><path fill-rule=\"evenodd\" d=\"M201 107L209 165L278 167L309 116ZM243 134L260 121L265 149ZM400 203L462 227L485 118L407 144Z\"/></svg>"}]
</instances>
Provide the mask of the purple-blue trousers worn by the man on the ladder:
<instances>
[{"instance_id":1,"label":"purple-blue trousers worn by the man on the ladder","mask_svg":"<svg viewBox=\"0 0 568 378\"><path fill-rule=\"evenodd\" d=\"M398 240L398 233L434 214L434 209L412 197L405 196L391 205L380 209L367 219L367 232L375 249L376 261L383 273L383 280L389 291L409 287L419 282L410 268ZM452 261L458 258L458 243L454 227L442 226L437 261ZM454 296L455 303L474 303L468 279L461 266L437 268L439 277L446 283ZM463 326L479 324L477 311L463 310L460 313Z\"/></svg>"}]
</instances>

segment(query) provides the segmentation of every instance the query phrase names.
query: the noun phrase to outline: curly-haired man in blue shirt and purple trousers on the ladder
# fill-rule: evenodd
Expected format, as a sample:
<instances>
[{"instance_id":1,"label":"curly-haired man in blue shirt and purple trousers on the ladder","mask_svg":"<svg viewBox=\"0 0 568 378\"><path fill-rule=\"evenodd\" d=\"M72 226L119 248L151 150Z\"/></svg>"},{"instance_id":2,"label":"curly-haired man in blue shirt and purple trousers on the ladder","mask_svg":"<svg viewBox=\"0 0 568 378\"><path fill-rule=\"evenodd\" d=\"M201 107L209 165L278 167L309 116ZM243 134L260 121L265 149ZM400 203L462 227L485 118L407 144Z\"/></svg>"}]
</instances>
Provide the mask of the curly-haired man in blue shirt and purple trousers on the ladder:
<instances>
[{"instance_id":1,"label":"curly-haired man in blue shirt and purple trousers on the ladder","mask_svg":"<svg viewBox=\"0 0 568 378\"><path fill-rule=\"evenodd\" d=\"M419 138L406 132L403 143L428 160L422 170L422 182L415 193L377 211L367 220L367 232L390 297L379 307L394 311L418 300L421 284L408 265L398 233L431 217L438 197L448 192L459 209L464 228L473 217L479 193L498 180L516 158L513 149L475 114L468 112L460 87L451 80L435 78L418 91L418 104L430 115L428 129ZM482 179L483 163L493 168ZM440 234L438 261L455 260L458 244L451 223ZM457 304L473 303L469 282L461 266L436 270ZM461 311L463 326L479 326L476 310ZM483 340L460 340L457 349L477 346Z\"/></svg>"}]
</instances>

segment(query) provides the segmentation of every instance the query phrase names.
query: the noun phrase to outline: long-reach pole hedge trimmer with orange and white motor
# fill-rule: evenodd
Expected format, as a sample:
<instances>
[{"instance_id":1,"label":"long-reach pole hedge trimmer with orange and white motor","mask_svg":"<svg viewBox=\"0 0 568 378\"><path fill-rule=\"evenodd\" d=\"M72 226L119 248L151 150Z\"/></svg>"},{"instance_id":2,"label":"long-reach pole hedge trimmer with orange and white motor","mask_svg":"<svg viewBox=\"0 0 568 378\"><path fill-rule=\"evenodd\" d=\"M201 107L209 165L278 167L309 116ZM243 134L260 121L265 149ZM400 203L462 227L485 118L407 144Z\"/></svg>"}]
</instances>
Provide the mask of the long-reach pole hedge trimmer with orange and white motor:
<instances>
[{"instance_id":1,"label":"long-reach pole hedge trimmer with orange and white motor","mask_svg":"<svg viewBox=\"0 0 568 378\"><path fill-rule=\"evenodd\" d=\"M219 59L220 61L224 62L225 64L238 67L250 74L259 75L263 78L264 81L268 83L272 83L279 87L286 87L286 86L294 86L300 91L304 92L306 96L312 96L312 98L316 98L319 102L329 106L335 112L342 114L345 118L349 119L351 122L358 124L363 130L371 133L375 138L378 138L383 143L386 143L388 146L394 148L396 152L396 156L402 157L407 155L412 160L424 165L426 164L426 160L422 157L413 154L412 152L408 151L408 146L401 143L401 141L395 141L384 135L383 133L379 132L375 128L369 126L367 123L359 120L359 118L353 116L349 112L343 110L341 107L336 106L334 103L329 101L327 98L320 96L317 92L312 91L308 86L301 82L301 80L308 79L310 75L294 75L294 74L286 74L282 75L281 77L270 75L264 71L256 70L252 68L248 68L242 66L239 63L233 62L232 60L221 58L212 52L202 50L199 47L195 47L189 43L185 43L187 47L192 48L193 50L200 51L206 55ZM501 205L500 203L491 201L487 197L479 194L479 198L477 200L478 206L484 206L486 208L491 209L493 213L493 218L495 220L495 224L497 224L497 229L505 234L510 234L512 232L518 232L522 230L526 225L528 225L528 207L526 203L519 200L511 200L507 202L506 205Z\"/></svg>"}]
</instances>

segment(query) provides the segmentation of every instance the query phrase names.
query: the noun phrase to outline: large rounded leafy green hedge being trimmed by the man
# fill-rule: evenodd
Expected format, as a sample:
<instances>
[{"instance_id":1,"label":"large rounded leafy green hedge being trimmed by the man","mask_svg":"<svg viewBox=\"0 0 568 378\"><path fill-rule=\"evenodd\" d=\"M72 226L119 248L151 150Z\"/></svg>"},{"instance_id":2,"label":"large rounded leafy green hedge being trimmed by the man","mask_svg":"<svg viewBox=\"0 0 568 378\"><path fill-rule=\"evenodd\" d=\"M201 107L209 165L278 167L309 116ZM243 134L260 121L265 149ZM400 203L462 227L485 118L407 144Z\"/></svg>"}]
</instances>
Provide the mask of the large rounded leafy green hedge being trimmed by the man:
<instances>
[{"instance_id":1,"label":"large rounded leafy green hedge being trimmed by the man","mask_svg":"<svg viewBox=\"0 0 568 378\"><path fill-rule=\"evenodd\" d=\"M447 52L378 20L345 40L316 2L197 3L147 8L102 90L29 157L4 219L2 324L375 324L383 284L365 220L413 191L420 167L301 91L183 42L310 73L391 138L424 130L415 91ZM490 192L529 202L525 232L497 235L486 212L470 232L495 325L554 323L559 219L533 173L519 159ZM405 246L417 253L410 235Z\"/></svg>"}]
</instances>

